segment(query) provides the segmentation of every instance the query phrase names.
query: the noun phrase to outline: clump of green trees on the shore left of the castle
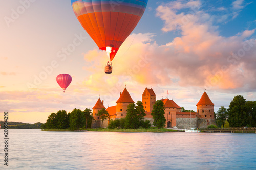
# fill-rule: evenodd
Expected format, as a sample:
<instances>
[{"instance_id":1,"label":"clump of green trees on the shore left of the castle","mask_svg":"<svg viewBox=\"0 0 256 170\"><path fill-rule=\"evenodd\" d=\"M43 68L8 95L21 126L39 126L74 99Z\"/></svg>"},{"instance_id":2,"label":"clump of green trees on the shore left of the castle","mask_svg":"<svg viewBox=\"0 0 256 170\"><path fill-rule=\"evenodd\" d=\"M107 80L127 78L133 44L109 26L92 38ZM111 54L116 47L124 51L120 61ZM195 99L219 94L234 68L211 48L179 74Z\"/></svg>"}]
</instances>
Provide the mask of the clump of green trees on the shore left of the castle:
<instances>
[{"instance_id":1,"label":"clump of green trees on the shore left of the castle","mask_svg":"<svg viewBox=\"0 0 256 170\"><path fill-rule=\"evenodd\" d=\"M41 129L71 129L90 128L93 120L92 110L74 109L67 113L65 110L59 110L57 113L51 113Z\"/></svg>"}]
</instances>

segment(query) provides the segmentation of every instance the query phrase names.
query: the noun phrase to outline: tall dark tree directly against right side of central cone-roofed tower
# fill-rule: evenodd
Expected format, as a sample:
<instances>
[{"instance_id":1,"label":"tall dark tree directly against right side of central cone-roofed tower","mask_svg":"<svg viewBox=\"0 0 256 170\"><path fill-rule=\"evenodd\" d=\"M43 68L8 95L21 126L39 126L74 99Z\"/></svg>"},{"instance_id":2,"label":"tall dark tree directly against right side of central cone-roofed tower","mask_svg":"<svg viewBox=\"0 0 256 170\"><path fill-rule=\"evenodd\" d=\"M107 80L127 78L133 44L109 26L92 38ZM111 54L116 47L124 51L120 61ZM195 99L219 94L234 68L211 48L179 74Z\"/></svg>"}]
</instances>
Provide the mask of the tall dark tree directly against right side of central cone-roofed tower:
<instances>
[{"instance_id":1,"label":"tall dark tree directly against right side of central cone-roofed tower","mask_svg":"<svg viewBox=\"0 0 256 170\"><path fill-rule=\"evenodd\" d=\"M127 114L125 117L125 129L138 129L139 128L139 116L135 109L135 103L130 103L127 106Z\"/></svg>"}]
</instances>

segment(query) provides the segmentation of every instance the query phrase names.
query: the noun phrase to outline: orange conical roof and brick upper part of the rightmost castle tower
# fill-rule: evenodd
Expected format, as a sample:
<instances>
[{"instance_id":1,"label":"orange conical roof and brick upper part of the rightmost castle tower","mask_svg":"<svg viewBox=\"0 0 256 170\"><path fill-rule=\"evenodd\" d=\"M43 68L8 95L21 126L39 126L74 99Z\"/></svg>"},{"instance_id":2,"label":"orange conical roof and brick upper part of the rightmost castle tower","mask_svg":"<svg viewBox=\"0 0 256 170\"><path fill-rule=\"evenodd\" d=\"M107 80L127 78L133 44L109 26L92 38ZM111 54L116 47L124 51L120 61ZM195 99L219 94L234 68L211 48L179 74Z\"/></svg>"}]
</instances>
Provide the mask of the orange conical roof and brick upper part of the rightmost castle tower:
<instances>
[{"instance_id":1,"label":"orange conical roof and brick upper part of the rightmost castle tower","mask_svg":"<svg viewBox=\"0 0 256 170\"><path fill-rule=\"evenodd\" d=\"M197 113L198 118L214 119L214 103L211 102L205 91L197 103Z\"/></svg>"}]
</instances>

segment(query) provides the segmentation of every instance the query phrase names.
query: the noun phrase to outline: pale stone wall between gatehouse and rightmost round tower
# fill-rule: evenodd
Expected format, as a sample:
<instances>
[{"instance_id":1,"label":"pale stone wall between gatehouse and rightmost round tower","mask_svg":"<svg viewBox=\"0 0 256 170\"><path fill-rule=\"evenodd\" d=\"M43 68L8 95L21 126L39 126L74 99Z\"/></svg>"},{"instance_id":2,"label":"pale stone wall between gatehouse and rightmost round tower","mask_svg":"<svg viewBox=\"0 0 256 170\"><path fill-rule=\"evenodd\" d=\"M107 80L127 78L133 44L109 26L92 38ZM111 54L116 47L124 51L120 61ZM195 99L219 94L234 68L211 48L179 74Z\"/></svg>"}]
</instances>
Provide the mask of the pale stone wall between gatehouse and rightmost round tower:
<instances>
[{"instance_id":1,"label":"pale stone wall between gatehouse and rightmost round tower","mask_svg":"<svg viewBox=\"0 0 256 170\"><path fill-rule=\"evenodd\" d=\"M179 129L190 129L190 128L198 128L198 118L191 118L191 127L190 127L190 118L176 118L177 128Z\"/></svg>"}]
</instances>

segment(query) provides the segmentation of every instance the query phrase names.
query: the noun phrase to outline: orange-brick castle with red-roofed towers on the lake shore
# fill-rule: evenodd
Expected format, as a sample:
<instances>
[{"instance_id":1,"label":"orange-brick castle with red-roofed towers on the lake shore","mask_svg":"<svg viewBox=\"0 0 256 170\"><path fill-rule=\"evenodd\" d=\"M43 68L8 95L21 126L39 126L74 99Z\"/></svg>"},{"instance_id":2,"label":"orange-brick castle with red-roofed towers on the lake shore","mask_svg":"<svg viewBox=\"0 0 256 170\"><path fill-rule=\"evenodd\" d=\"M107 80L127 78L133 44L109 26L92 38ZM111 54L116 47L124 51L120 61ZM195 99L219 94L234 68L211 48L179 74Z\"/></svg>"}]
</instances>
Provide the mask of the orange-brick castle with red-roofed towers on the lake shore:
<instances>
[{"instance_id":1,"label":"orange-brick castle with red-roofed towers on the lake shore","mask_svg":"<svg viewBox=\"0 0 256 170\"><path fill-rule=\"evenodd\" d=\"M206 92L203 93L201 99L196 105L196 113L181 112L181 107L176 104L174 100L170 100L167 98L162 99L162 101L165 105L165 128L207 128L208 125L216 125L214 119L214 103L211 102ZM116 101L116 105L108 107L106 109L109 112L109 118L115 120L126 117L127 106L130 103L134 103L134 101L125 87L123 92L120 92L120 97ZM153 105L156 103L156 94L152 88L145 88L142 94L142 103L146 113L146 116L144 118L146 120L150 120L150 122L152 123L153 118L151 116L151 111L153 110ZM93 107L93 117L95 120L92 123L92 128L100 127L101 124L100 119L97 116L97 112L102 108L105 108L103 105L103 101L101 102L101 100L98 99L95 106ZM103 128L106 128L107 126L108 120L105 120L105 122L103 123Z\"/></svg>"}]
</instances>

